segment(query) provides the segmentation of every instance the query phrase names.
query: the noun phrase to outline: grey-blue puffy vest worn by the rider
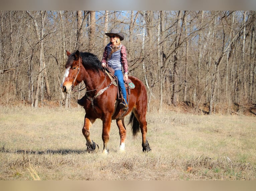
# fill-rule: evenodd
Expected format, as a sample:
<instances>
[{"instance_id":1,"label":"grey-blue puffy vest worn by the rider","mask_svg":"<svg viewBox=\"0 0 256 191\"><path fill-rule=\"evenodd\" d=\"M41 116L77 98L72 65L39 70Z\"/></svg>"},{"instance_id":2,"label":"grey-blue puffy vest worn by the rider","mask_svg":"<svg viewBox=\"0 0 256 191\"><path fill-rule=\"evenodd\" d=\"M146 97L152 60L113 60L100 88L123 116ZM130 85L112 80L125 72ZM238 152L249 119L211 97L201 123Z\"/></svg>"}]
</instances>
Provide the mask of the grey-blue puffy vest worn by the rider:
<instances>
[{"instance_id":1,"label":"grey-blue puffy vest worn by the rider","mask_svg":"<svg viewBox=\"0 0 256 191\"><path fill-rule=\"evenodd\" d=\"M110 43L107 45L107 51L108 51L108 66L113 68L114 70L122 70L122 64L121 64L121 47L119 46L119 49L116 52L113 52L112 55L112 47L110 47Z\"/></svg>"}]
</instances>

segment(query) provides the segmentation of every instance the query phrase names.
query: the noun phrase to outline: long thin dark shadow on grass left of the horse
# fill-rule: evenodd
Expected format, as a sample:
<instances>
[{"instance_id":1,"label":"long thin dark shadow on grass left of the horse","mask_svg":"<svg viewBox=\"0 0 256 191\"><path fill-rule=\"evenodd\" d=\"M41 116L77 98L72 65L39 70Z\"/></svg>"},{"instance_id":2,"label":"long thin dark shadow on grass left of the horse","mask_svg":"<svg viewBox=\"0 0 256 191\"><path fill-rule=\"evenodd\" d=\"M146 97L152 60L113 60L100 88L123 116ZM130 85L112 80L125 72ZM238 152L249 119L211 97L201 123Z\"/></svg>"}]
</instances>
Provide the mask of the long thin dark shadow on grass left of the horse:
<instances>
[{"instance_id":1,"label":"long thin dark shadow on grass left of the horse","mask_svg":"<svg viewBox=\"0 0 256 191\"><path fill-rule=\"evenodd\" d=\"M17 150L9 150L5 149L4 146L0 149L0 152L6 152L6 153L17 153L17 154L60 154L60 155L68 155L68 154L83 154L87 153L86 150L74 150L74 149L47 149L47 150L23 150L23 149L17 149Z\"/></svg>"}]
</instances>

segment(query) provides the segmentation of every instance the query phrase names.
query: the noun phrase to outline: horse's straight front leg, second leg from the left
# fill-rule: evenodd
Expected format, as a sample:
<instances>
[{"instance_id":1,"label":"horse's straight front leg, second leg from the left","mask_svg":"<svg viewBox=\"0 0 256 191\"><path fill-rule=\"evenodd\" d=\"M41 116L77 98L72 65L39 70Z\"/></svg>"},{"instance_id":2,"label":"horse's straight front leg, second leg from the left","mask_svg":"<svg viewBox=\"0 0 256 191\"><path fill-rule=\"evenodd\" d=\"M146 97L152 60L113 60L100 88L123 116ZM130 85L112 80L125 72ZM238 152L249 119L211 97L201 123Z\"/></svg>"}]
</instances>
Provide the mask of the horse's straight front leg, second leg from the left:
<instances>
[{"instance_id":1,"label":"horse's straight front leg, second leg from the left","mask_svg":"<svg viewBox=\"0 0 256 191\"><path fill-rule=\"evenodd\" d=\"M103 140L103 151L102 153L107 154L109 152L108 142L109 142L109 132L111 127L111 115L105 116L102 120L102 140Z\"/></svg>"}]
</instances>

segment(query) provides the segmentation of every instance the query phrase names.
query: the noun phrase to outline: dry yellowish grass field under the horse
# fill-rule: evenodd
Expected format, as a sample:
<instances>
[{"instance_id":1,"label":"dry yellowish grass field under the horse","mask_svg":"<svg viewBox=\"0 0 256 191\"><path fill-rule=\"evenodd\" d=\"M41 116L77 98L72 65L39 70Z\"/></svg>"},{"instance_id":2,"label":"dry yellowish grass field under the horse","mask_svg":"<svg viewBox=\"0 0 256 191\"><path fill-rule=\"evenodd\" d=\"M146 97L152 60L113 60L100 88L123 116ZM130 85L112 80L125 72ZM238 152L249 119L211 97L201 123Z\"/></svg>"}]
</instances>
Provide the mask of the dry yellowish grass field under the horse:
<instances>
[{"instance_id":1,"label":"dry yellowish grass field under the horse","mask_svg":"<svg viewBox=\"0 0 256 191\"><path fill-rule=\"evenodd\" d=\"M103 155L99 119L91 137L100 150L85 152L84 115L83 108L0 106L0 180L256 180L255 117L150 112L149 153L130 125L119 153L113 121Z\"/></svg>"}]
</instances>

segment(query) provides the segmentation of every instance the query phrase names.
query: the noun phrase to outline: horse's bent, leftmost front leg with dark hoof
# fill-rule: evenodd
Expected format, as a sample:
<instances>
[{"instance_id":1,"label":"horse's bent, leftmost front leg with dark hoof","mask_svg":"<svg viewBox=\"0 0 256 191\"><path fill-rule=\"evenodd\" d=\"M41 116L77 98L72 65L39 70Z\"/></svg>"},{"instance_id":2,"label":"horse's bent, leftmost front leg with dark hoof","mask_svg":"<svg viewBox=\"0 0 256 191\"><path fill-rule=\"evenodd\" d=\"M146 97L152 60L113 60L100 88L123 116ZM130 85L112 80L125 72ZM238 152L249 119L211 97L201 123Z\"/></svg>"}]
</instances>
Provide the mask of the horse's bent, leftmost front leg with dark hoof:
<instances>
[{"instance_id":1,"label":"horse's bent, leftmost front leg with dark hoof","mask_svg":"<svg viewBox=\"0 0 256 191\"><path fill-rule=\"evenodd\" d=\"M87 116L87 114L85 115L85 123L82 132L86 139L86 146L88 152L93 152L96 149L96 146L99 149L99 146L90 137L90 127L94 122L95 119L90 118L89 116Z\"/></svg>"}]
</instances>

